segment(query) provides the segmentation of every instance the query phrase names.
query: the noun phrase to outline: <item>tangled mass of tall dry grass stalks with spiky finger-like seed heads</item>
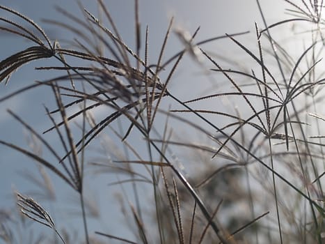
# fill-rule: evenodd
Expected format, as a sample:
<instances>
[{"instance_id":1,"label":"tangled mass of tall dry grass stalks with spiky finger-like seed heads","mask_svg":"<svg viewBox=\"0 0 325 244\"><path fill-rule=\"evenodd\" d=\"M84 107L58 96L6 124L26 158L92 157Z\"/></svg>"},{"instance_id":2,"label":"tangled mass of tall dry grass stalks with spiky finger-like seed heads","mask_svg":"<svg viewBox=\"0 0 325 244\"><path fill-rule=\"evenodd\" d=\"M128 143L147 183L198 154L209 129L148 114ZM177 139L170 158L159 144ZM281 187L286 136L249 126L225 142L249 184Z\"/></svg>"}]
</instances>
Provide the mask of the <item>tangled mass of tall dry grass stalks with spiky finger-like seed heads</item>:
<instances>
[{"instance_id":1,"label":"tangled mass of tall dry grass stalks with spiky finger-like seed heads","mask_svg":"<svg viewBox=\"0 0 325 244\"><path fill-rule=\"evenodd\" d=\"M10 75L31 61L60 63L36 68L54 70L57 77L31 82L0 98L3 102L48 88L55 101L51 109L45 106L48 130L38 131L8 110L29 132L30 148L1 137L0 144L36 162L47 201L54 201L55 192L62 190L53 186L51 176L79 196L82 225L75 237L73 229L61 228L60 218L54 223L35 197L15 192L20 213L53 230L47 236L40 231L34 242L323 243L323 1L285 2L289 18L267 23L256 1L263 22L255 24L255 33L244 30L198 41L199 28L188 33L176 29L171 19L157 44L149 43L150 26L144 29L139 22L135 0L134 49L123 40L102 0L97 1L100 17L80 6L83 17L58 8L69 21L46 20L77 36L68 43L61 43L60 37L51 41L29 17L0 6L19 20L0 17L0 30L30 43L0 62L1 82L10 86ZM290 45L276 40L273 33L279 29L290 33L290 45L301 48L292 52ZM166 56L172 35L184 49ZM255 48L241 43L241 36L247 35L255 36ZM222 59L205 48L221 39L246 56L244 68L224 64L238 63L237 56ZM150 46L160 50L157 60L149 60ZM182 100L170 83L186 82L175 78L186 55L204 74L198 82L222 85ZM191 92L183 87L183 92ZM209 106L202 107L206 101ZM177 133L179 128L189 136ZM45 137L49 133L59 143ZM87 160L91 148L103 156ZM111 185L120 189L116 198L127 223L118 234L89 224L91 216L117 220L111 219L110 210L93 208L87 199L88 169L93 170L91 177L111 182L96 187L99 195L107 195ZM118 181L112 182L113 174ZM1 239L19 243L13 223L26 220L18 215L14 221L6 211L1 211L0 220ZM133 236L123 236L127 228Z\"/></svg>"}]
</instances>

